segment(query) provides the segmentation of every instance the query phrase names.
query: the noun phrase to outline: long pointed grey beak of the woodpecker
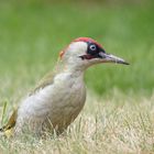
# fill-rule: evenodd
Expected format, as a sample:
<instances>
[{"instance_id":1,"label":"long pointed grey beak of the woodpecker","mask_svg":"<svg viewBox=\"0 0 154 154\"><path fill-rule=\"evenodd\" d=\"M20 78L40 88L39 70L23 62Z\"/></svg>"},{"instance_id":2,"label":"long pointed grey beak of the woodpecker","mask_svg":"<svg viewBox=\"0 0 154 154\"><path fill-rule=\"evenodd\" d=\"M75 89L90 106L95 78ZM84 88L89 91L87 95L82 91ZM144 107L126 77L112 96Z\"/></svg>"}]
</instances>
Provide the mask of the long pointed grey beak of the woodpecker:
<instances>
[{"instance_id":1,"label":"long pointed grey beak of the woodpecker","mask_svg":"<svg viewBox=\"0 0 154 154\"><path fill-rule=\"evenodd\" d=\"M116 63L116 64L130 65L124 59L117 57L114 55L111 55L111 54L103 53L103 52L99 53L99 57L102 59L102 63Z\"/></svg>"}]
</instances>

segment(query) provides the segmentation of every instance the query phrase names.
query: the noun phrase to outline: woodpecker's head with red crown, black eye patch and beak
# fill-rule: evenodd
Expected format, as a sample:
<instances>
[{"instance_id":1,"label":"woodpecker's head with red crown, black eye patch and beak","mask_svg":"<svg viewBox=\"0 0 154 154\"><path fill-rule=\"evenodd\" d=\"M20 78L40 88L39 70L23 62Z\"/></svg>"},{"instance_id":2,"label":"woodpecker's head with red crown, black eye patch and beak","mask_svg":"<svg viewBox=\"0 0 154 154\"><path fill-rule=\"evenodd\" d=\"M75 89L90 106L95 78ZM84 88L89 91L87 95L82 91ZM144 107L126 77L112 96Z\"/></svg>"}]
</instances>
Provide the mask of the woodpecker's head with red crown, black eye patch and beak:
<instances>
[{"instance_id":1,"label":"woodpecker's head with red crown, black eye patch and beak","mask_svg":"<svg viewBox=\"0 0 154 154\"><path fill-rule=\"evenodd\" d=\"M105 48L90 37L79 37L74 40L59 57L72 68L86 69L95 64L114 63L129 65L124 59L106 53Z\"/></svg>"}]
</instances>

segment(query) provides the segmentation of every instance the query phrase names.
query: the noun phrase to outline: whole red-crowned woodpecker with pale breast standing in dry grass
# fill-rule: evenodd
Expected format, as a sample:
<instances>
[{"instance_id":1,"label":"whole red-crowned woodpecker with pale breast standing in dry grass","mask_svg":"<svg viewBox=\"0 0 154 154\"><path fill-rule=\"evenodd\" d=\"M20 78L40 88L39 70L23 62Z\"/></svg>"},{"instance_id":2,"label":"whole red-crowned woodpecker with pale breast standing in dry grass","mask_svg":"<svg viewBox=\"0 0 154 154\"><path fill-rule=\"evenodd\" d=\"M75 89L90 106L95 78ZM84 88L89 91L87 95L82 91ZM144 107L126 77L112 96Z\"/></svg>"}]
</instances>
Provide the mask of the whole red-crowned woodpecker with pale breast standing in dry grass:
<instances>
[{"instance_id":1,"label":"whole red-crowned woodpecker with pale breast standing in dry grass","mask_svg":"<svg viewBox=\"0 0 154 154\"><path fill-rule=\"evenodd\" d=\"M63 133L84 108L86 69L105 63L129 65L124 59L106 53L103 46L91 37L73 40L61 51L54 70L21 100L0 131L13 130L14 134L29 131L37 135Z\"/></svg>"}]
</instances>

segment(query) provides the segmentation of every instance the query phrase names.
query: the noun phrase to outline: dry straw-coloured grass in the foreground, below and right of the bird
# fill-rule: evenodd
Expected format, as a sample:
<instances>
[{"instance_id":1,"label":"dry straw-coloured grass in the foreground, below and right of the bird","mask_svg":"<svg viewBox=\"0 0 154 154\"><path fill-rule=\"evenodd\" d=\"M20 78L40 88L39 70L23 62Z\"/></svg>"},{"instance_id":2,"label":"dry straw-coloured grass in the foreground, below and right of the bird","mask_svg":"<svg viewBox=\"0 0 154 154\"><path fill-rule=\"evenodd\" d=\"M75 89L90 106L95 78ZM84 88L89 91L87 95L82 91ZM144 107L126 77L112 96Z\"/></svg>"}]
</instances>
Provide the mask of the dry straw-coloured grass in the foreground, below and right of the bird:
<instances>
[{"instance_id":1,"label":"dry straw-coloured grass in the foreground, below and right of the bird","mask_svg":"<svg viewBox=\"0 0 154 154\"><path fill-rule=\"evenodd\" d=\"M128 97L114 90L114 98L88 96L78 119L61 136L38 140L30 135L1 139L2 153L142 153L154 152L154 97ZM139 103L140 102L140 103Z\"/></svg>"}]
</instances>

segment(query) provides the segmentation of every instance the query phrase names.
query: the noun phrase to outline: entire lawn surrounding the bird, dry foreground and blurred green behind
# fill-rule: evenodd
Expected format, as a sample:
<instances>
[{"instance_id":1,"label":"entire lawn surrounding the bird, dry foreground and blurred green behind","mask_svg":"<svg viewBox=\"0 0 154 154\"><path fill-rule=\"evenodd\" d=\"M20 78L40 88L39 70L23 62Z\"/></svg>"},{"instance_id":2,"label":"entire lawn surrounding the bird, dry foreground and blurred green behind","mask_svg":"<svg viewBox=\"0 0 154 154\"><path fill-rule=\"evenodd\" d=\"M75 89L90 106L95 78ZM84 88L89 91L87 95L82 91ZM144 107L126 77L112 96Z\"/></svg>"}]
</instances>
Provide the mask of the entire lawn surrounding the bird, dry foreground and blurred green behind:
<instances>
[{"instance_id":1,"label":"entire lawn surrounding the bird, dry foreground and blurred green behind","mask_svg":"<svg viewBox=\"0 0 154 154\"><path fill-rule=\"evenodd\" d=\"M153 2L0 1L0 116L51 69L73 38L90 36L131 65L95 66L86 107L62 136L0 139L1 153L154 153ZM94 76L95 74L95 76ZM7 106L3 114L3 106Z\"/></svg>"}]
</instances>

